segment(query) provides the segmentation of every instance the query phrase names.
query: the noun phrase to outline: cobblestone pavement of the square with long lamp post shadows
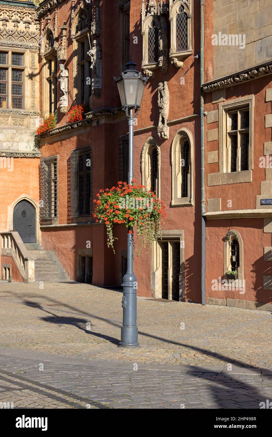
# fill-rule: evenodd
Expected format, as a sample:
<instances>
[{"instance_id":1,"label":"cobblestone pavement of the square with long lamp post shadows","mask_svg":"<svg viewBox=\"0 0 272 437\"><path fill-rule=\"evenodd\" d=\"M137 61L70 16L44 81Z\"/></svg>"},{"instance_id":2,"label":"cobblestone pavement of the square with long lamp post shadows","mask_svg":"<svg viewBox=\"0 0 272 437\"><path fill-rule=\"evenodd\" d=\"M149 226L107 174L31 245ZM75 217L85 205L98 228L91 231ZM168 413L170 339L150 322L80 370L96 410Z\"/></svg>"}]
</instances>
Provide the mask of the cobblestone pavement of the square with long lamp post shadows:
<instances>
[{"instance_id":1,"label":"cobblestone pavement of the square with long lamp post shadows","mask_svg":"<svg viewBox=\"0 0 272 437\"><path fill-rule=\"evenodd\" d=\"M138 298L141 347L123 349L121 293L39 286L0 283L0 402L244 409L272 399L270 312Z\"/></svg>"}]
</instances>

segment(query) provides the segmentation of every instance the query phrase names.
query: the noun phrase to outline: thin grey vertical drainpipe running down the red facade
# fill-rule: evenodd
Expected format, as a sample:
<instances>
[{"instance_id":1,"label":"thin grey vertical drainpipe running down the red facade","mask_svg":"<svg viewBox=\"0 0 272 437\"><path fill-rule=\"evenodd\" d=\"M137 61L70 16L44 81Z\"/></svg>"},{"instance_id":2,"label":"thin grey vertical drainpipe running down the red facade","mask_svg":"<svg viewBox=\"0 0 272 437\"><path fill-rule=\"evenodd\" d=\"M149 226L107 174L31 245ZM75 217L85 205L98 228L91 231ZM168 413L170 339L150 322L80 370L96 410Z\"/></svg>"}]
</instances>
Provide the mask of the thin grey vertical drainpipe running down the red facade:
<instances>
[{"instance_id":1,"label":"thin grey vertical drainpipe running down the red facade","mask_svg":"<svg viewBox=\"0 0 272 437\"><path fill-rule=\"evenodd\" d=\"M204 149L204 96L202 84L204 83L204 0L200 2L201 16L201 48L200 48L200 80L201 80L201 303L206 304L205 291L205 241L206 241L206 223L204 214L206 212L205 205L205 149Z\"/></svg>"}]
</instances>

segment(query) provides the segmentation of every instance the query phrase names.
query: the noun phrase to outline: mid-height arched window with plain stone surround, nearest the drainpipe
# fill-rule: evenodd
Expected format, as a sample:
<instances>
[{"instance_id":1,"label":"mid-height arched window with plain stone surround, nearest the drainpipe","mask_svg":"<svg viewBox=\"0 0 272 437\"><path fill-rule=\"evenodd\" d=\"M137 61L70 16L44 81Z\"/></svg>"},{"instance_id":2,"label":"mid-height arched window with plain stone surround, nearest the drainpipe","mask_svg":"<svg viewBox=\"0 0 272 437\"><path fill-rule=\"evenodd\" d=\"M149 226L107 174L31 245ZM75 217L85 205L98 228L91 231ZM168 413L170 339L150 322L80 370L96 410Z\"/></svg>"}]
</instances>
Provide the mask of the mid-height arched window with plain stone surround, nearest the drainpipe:
<instances>
[{"instance_id":1,"label":"mid-height arched window with plain stone surround, nearest the drainpipe","mask_svg":"<svg viewBox=\"0 0 272 437\"><path fill-rule=\"evenodd\" d=\"M172 206L194 205L194 140L187 128L180 129L173 138Z\"/></svg>"}]
</instances>

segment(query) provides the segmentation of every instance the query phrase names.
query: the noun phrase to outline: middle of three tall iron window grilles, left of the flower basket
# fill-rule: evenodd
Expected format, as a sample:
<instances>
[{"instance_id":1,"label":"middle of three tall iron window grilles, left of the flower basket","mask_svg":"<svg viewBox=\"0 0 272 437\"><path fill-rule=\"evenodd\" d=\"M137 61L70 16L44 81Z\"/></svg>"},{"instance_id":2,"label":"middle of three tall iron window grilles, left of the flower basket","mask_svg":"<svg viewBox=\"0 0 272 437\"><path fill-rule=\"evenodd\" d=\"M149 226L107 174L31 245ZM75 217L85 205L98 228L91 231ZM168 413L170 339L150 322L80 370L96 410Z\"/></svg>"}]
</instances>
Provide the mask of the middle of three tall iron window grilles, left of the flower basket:
<instances>
[{"instance_id":1,"label":"middle of three tall iron window grilles, left of the flower basket","mask_svg":"<svg viewBox=\"0 0 272 437\"><path fill-rule=\"evenodd\" d=\"M92 212L92 149L82 147L71 152L71 217Z\"/></svg>"}]
</instances>

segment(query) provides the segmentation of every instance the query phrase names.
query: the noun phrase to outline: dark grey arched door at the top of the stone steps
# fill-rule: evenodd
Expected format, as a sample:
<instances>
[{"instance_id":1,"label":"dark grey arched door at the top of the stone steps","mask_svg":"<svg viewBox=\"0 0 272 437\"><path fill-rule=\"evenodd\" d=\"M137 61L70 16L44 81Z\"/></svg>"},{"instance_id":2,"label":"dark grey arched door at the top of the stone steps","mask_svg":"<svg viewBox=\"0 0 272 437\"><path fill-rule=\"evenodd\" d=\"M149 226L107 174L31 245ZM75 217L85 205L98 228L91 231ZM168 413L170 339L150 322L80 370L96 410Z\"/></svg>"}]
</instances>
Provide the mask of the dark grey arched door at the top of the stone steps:
<instances>
[{"instance_id":1,"label":"dark grey arched door at the top of the stone steps","mask_svg":"<svg viewBox=\"0 0 272 437\"><path fill-rule=\"evenodd\" d=\"M36 211L27 200L21 200L14 207L13 229L24 243L36 243Z\"/></svg>"}]
</instances>

